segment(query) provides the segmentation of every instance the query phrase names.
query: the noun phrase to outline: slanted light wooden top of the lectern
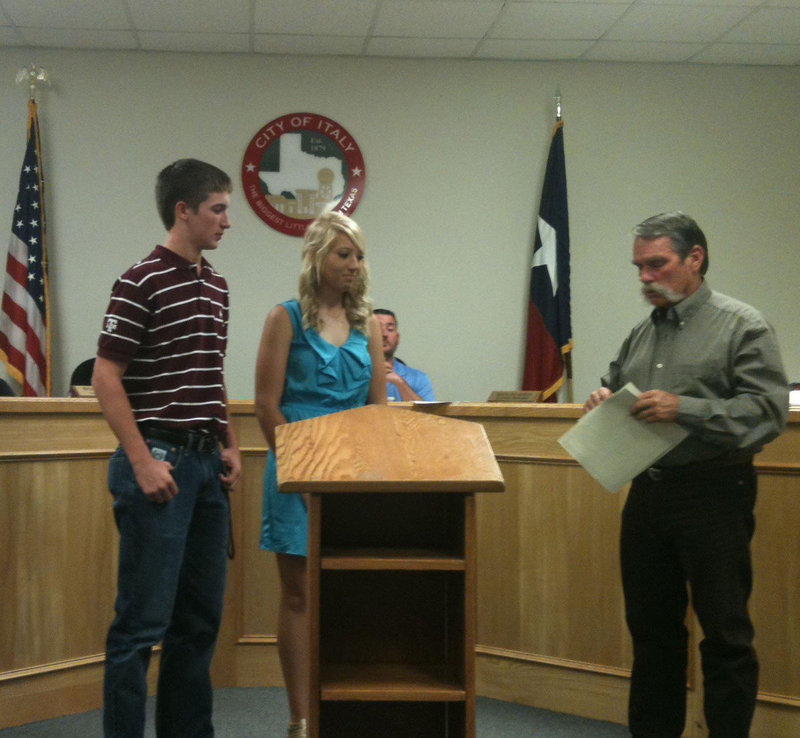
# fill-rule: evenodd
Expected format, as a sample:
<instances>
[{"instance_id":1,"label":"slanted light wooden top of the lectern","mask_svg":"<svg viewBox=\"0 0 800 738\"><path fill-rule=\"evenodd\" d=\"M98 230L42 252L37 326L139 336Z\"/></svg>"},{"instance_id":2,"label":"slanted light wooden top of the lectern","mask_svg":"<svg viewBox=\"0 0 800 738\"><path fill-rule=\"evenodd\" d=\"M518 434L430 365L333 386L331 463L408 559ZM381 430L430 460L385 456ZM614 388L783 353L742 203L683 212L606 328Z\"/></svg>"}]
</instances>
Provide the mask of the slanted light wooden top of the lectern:
<instances>
[{"instance_id":1,"label":"slanted light wooden top of the lectern","mask_svg":"<svg viewBox=\"0 0 800 738\"><path fill-rule=\"evenodd\" d=\"M479 423L366 405L275 430L281 492L502 492Z\"/></svg>"}]
</instances>

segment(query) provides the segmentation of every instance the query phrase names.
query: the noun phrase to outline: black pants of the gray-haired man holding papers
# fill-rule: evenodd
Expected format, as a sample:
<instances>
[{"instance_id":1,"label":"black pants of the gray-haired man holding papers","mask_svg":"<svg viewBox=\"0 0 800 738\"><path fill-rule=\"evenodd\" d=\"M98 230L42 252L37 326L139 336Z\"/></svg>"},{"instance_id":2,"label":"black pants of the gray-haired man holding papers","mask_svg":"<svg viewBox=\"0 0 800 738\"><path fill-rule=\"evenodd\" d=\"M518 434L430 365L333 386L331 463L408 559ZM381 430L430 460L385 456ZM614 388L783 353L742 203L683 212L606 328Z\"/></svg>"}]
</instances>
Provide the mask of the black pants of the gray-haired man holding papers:
<instances>
[{"instance_id":1,"label":"black pants of the gray-haired man holding papers","mask_svg":"<svg viewBox=\"0 0 800 738\"><path fill-rule=\"evenodd\" d=\"M628 717L634 738L678 738L686 721L688 604L703 630L710 738L746 738L758 687L750 540L752 463L693 466L634 480L622 513L625 614L633 638Z\"/></svg>"}]
</instances>

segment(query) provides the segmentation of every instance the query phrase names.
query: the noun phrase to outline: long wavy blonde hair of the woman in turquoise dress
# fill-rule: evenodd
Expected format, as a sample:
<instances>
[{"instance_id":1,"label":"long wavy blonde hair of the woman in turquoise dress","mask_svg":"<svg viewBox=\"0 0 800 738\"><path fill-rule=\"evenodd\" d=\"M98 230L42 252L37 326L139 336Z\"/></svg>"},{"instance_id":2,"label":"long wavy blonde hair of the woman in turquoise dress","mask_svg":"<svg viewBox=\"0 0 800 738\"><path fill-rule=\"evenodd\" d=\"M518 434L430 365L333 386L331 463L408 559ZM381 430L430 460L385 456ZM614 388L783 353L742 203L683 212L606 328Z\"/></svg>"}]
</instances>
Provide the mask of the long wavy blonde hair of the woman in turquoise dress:
<instances>
[{"instance_id":1,"label":"long wavy blonde hair of the woman in turquoise dress","mask_svg":"<svg viewBox=\"0 0 800 738\"><path fill-rule=\"evenodd\" d=\"M319 280L322 265L333 247L336 237L344 233L361 251L366 253L364 233L352 218L342 213L330 211L320 215L308 226L303 241L303 267L300 271L300 311L303 314L303 328L314 327L321 330L319 316ZM372 303L369 299L369 267L367 260L361 261L361 269L353 281L353 286L344 294L344 309L350 325L362 333L367 332L367 324L372 316Z\"/></svg>"}]
</instances>

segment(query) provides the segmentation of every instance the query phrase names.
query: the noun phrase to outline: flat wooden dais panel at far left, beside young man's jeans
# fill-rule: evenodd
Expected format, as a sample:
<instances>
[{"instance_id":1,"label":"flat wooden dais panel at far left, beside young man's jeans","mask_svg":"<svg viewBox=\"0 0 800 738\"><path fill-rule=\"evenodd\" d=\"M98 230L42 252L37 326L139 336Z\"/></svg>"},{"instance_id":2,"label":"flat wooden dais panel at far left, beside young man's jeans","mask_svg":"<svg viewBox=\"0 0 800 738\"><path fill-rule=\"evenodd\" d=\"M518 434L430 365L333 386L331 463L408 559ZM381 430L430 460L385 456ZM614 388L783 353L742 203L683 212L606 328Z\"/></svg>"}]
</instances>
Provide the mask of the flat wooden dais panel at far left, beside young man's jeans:
<instances>
[{"instance_id":1,"label":"flat wooden dais panel at far left, beside young man's jeans","mask_svg":"<svg viewBox=\"0 0 800 738\"><path fill-rule=\"evenodd\" d=\"M0 673L105 648L117 534L105 463L0 463Z\"/></svg>"}]
</instances>

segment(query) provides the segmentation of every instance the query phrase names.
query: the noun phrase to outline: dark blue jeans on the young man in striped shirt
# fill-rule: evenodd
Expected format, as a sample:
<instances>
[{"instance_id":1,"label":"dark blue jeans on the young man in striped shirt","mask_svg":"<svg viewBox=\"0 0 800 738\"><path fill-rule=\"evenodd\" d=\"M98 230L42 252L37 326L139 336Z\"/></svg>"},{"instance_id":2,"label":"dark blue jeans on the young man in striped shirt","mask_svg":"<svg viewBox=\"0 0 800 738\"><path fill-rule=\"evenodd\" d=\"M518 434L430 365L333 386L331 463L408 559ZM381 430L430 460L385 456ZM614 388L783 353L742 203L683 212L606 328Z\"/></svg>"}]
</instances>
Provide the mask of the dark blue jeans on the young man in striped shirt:
<instances>
[{"instance_id":1,"label":"dark blue jeans on the young man in striped shirt","mask_svg":"<svg viewBox=\"0 0 800 738\"><path fill-rule=\"evenodd\" d=\"M104 735L144 735L147 667L163 640L156 702L159 736L213 736L209 668L222 617L229 532L219 451L146 439L173 465L178 494L149 501L121 448L108 483L120 533L116 617L106 642Z\"/></svg>"}]
</instances>

